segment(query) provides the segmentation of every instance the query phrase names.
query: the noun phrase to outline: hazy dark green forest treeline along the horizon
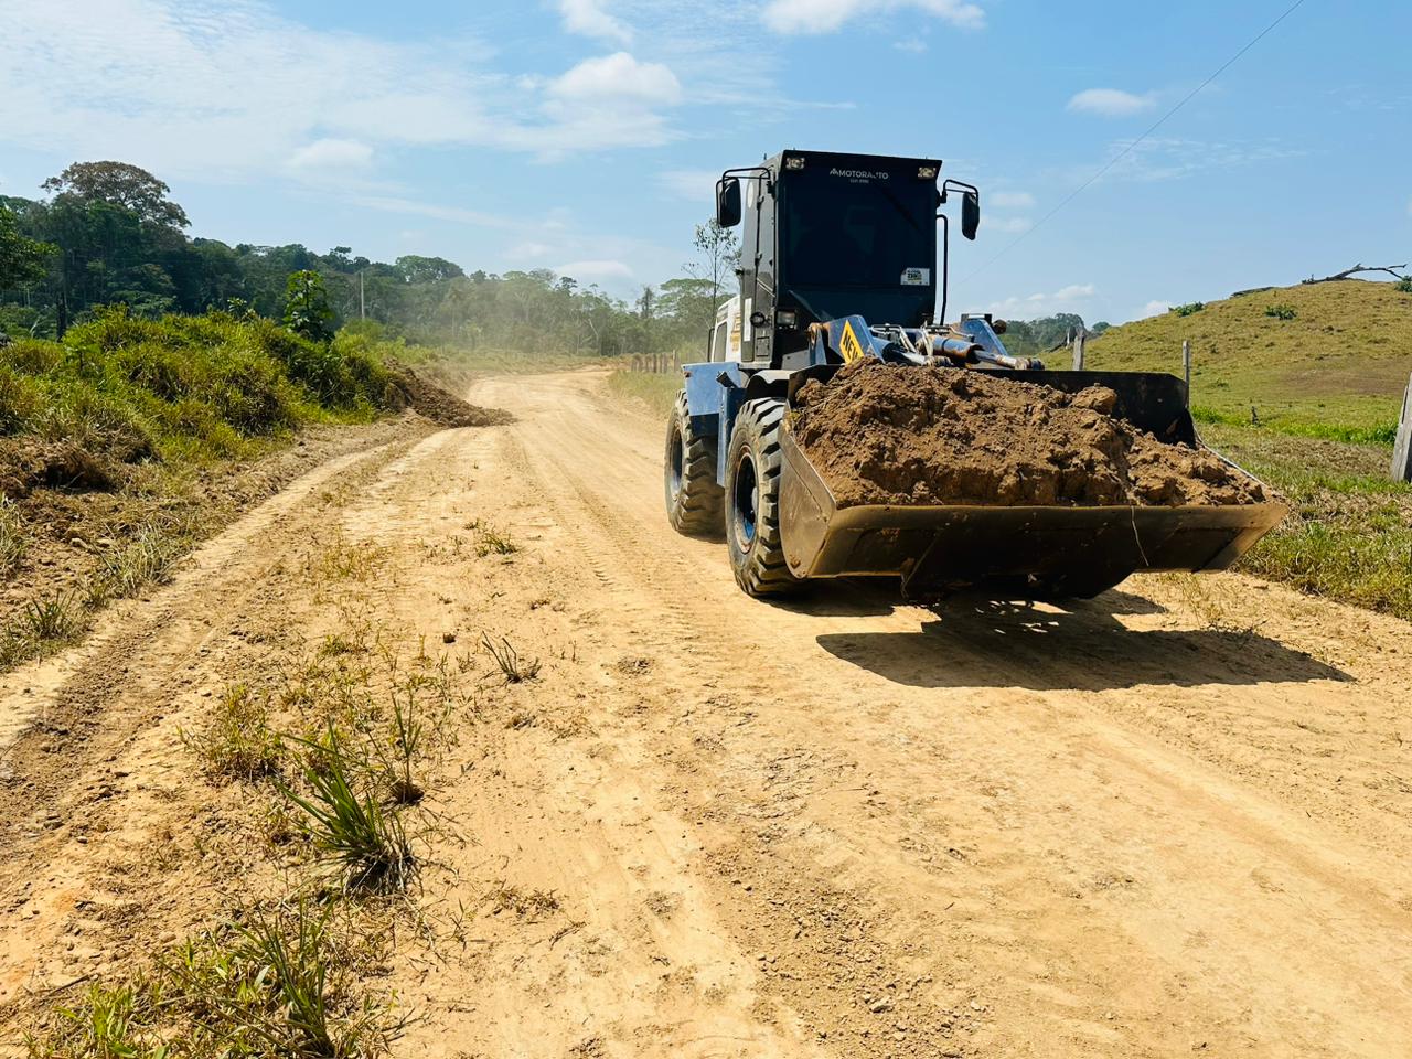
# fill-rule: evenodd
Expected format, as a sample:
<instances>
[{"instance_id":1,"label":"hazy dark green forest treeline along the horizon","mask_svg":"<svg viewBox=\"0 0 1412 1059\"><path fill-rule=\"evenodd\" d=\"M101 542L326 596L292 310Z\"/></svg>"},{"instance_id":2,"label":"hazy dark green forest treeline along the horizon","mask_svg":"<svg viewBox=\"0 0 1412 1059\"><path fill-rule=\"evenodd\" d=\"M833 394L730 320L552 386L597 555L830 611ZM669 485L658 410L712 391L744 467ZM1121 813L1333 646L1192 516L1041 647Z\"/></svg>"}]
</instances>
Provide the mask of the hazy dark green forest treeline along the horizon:
<instances>
[{"instance_id":1,"label":"hazy dark green forest treeline along the horizon","mask_svg":"<svg viewBox=\"0 0 1412 1059\"><path fill-rule=\"evenodd\" d=\"M336 246L230 246L191 237L155 175L124 162L75 162L42 198L0 196L0 332L59 337L124 305L134 318L210 309L287 315L289 278L316 273L330 330L369 319L414 343L473 350L618 356L705 346L714 306L733 292L733 230L696 227L682 274L624 301L549 270L465 271L441 257L373 261ZM1077 316L1015 323L1015 353L1062 342Z\"/></svg>"}]
</instances>

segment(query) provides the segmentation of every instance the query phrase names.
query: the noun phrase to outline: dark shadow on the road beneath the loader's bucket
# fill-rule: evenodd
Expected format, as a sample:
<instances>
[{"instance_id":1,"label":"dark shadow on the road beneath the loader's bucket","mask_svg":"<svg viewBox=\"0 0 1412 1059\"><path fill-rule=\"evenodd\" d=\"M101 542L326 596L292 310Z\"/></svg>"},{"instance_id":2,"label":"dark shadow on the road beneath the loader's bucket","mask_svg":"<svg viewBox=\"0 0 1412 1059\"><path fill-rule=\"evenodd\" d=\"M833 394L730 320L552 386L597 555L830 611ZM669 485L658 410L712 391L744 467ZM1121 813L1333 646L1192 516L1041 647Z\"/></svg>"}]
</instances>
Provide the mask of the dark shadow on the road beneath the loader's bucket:
<instances>
[{"instance_id":1,"label":"dark shadow on the road beneath the loader's bucket","mask_svg":"<svg viewBox=\"0 0 1412 1059\"><path fill-rule=\"evenodd\" d=\"M1151 613L1125 610L1135 599L1106 593L1059 610L957 597L933 607L938 620L918 633L829 633L816 641L836 658L914 688L1097 692L1353 679L1254 631L1128 628L1114 613Z\"/></svg>"}]
</instances>

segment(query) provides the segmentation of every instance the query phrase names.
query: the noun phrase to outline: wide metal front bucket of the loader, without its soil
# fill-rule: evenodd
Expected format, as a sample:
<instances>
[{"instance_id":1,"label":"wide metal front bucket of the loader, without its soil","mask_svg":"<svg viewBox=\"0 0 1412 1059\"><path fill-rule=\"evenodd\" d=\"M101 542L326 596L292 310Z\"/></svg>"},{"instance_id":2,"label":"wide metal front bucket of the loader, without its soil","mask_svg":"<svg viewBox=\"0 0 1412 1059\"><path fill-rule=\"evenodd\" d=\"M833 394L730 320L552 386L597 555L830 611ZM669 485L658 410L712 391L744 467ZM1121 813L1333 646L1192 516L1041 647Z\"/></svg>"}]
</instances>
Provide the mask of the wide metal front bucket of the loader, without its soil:
<instances>
[{"instance_id":1,"label":"wide metal front bucket of the loader, without its soil","mask_svg":"<svg viewBox=\"0 0 1412 1059\"><path fill-rule=\"evenodd\" d=\"M1182 384L1171 376L1028 371L1015 377L1055 385L1036 376L1062 376L1065 390L1118 383L1117 414L1123 418L1142 429L1158 426L1152 432L1163 439L1186 441L1182 435L1189 435L1189 443L1200 443ZM1178 390L1158 380L1171 380ZM779 518L789 570L798 578L901 578L911 597L963 587L1089 597L1138 570L1219 570L1286 514L1275 501L1228 507L840 508L788 425L781 449Z\"/></svg>"}]
</instances>

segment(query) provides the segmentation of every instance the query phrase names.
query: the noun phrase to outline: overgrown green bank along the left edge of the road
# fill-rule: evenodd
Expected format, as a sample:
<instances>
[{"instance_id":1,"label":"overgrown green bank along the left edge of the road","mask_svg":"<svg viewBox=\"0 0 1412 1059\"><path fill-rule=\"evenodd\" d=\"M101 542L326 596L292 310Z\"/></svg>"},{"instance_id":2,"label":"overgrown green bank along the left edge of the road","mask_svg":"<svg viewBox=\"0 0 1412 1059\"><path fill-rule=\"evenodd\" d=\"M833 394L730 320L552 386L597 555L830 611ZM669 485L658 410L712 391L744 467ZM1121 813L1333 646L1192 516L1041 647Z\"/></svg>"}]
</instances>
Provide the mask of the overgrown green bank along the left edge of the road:
<instances>
[{"instance_id":1,"label":"overgrown green bank along the left edge of the road","mask_svg":"<svg viewBox=\"0 0 1412 1059\"><path fill-rule=\"evenodd\" d=\"M0 345L0 668L73 642L171 576L239 463L402 402L388 350L249 312L97 312Z\"/></svg>"}]
</instances>

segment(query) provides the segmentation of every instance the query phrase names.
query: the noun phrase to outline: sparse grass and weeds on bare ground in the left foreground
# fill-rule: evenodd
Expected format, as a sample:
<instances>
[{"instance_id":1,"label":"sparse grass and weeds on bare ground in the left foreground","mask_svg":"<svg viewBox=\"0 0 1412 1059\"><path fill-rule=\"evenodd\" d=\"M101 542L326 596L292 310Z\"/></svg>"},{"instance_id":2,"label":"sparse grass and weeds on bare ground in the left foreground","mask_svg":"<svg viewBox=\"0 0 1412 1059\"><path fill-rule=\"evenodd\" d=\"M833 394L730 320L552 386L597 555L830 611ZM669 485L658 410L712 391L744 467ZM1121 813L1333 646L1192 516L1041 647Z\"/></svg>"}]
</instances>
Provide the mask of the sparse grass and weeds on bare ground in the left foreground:
<instances>
[{"instance_id":1,"label":"sparse grass and weeds on bare ground in the left foreground","mask_svg":"<svg viewBox=\"0 0 1412 1059\"><path fill-rule=\"evenodd\" d=\"M404 657L360 624L377 559L352 552L337 537L298 573L336 611L335 631L253 674L258 686L227 688L181 733L226 806L222 829L244 836L233 861L208 854L203 871L243 884L209 926L38 1004L30 1059L378 1059L402 1034L414 1012L378 979L398 936L431 929L419 870L436 842L459 840L436 792L477 717L463 683L494 666Z\"/></svg>"}]
</instances>

